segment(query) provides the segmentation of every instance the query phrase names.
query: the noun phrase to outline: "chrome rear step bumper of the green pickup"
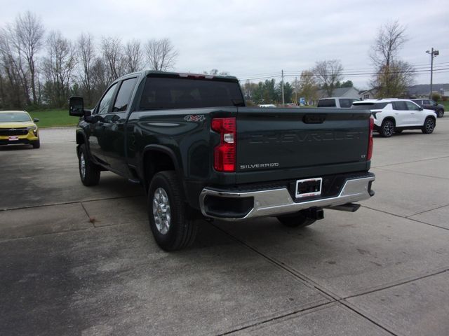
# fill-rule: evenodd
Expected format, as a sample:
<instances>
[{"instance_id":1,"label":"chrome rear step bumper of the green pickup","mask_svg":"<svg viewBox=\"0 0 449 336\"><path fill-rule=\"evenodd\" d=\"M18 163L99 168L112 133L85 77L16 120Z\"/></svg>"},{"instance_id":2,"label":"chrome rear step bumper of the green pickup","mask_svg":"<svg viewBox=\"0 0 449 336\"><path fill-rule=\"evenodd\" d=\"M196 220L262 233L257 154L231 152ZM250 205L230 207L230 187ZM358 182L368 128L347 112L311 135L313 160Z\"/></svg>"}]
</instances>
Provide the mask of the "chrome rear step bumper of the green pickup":
<instances>
[{"instance_id":1,"label":"chrome rear step bumper of the green pickup","mask_svg":"<svg viewBox=\"0 0 449 336\"><path fill-rule=\"evenodd\" d=\"M204 216L224 221L280 216L311 207L331 208L351 202L368 200L368 198L374 195L374 191L371 190L371 183L374 180L374 174L361 179L349 179L344 183L336 197L304 202L294 202L287 188L257 190L245 193L204 188L199 196L199 204Z\"/></svg>"}]
</instances>

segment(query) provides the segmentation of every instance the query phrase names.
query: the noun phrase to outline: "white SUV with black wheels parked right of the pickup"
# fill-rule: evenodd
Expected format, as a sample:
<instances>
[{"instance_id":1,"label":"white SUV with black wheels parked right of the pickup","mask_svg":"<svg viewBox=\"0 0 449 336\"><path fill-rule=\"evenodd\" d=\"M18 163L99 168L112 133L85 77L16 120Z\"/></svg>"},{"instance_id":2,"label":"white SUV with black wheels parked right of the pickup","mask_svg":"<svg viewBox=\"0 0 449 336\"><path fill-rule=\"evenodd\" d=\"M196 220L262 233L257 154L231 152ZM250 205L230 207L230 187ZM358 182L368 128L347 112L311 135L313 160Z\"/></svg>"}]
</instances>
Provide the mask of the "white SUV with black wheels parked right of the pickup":
<instances>
[{"instance_id":1,"label":"white SUV with black wheels parked right of the pickup","mask_svg":"<svg viewBox=\"0 0 449 336\"><path fill-rule=\"evenodd\" d=\"M391 137L403 130L434 132L436 113L424 110L409 99L367 99L352 103L352 109L369 109L374 117L374 130Z\"/></svg>"}]
</instances>

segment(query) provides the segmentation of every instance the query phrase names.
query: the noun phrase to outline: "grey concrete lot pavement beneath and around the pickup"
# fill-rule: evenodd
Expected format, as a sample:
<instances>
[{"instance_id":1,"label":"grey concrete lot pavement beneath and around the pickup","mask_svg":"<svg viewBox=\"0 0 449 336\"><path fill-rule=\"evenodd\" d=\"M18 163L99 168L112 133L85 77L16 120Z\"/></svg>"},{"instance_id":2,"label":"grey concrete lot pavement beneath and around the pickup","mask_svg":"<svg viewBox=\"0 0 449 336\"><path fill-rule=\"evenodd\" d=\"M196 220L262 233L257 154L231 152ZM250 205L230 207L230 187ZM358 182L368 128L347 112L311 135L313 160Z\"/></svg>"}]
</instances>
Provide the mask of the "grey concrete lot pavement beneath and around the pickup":
<instances>
[{"instance_id":1,"label":"grey concrete lot pavement beneath and around the pickup","mask_svg":"<svg viewBox=\"0 0 449 336\"><path fill-rule=\"evenodd\" d=\"M304 230L201 223L165 253L145 197L81 185L74 130L0 148L1 335L449 335L449 116L375 137L375 197Z\"/></svg>"}]
</instances>

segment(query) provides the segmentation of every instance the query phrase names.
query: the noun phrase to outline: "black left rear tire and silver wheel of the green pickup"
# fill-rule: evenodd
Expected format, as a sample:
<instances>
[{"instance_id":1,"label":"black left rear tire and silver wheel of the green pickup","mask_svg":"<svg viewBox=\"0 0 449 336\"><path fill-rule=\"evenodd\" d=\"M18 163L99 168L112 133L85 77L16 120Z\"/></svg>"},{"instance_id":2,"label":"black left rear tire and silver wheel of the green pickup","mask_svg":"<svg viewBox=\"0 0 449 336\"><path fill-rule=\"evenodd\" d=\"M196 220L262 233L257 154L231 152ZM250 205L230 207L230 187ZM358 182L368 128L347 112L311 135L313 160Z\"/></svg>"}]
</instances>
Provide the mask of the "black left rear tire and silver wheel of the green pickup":
<instances>
[{"instance_id":1,"label":"black left rear tire and silver wheel of the green pickup","mask_svg":"<svg viewBox=\"0 0 449 336\"><path fill-rule=\"evenodd\" d=\"M154 175L149 184L147 204L149 227L163 250L175 251L193 244L198 221L187 214L189 206L184 202L174 171Z\"/></svg>"}]
</instances>

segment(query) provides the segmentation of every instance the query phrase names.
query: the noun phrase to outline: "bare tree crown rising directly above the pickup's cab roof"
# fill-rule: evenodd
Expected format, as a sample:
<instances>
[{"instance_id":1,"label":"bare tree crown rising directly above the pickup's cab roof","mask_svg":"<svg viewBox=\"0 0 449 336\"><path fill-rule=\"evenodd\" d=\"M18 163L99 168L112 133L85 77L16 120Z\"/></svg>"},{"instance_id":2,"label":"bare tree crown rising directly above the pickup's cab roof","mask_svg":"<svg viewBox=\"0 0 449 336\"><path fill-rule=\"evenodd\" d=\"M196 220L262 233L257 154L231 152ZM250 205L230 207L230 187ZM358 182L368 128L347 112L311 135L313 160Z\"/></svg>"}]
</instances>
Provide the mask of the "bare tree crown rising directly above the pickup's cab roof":
<instances>
[{"instance_id":1,"label":"bare tree crown rising directly above the pickup's cab roof","mask_svg":"<svg viewBox=\"0 0 449 336\"><path fill-rule=\"evenodd\" d=\"M173 68L178 55L168 38L149 40L145 45L145 52L150 69L159 71Z\"/></svg>"}]
</instances>

